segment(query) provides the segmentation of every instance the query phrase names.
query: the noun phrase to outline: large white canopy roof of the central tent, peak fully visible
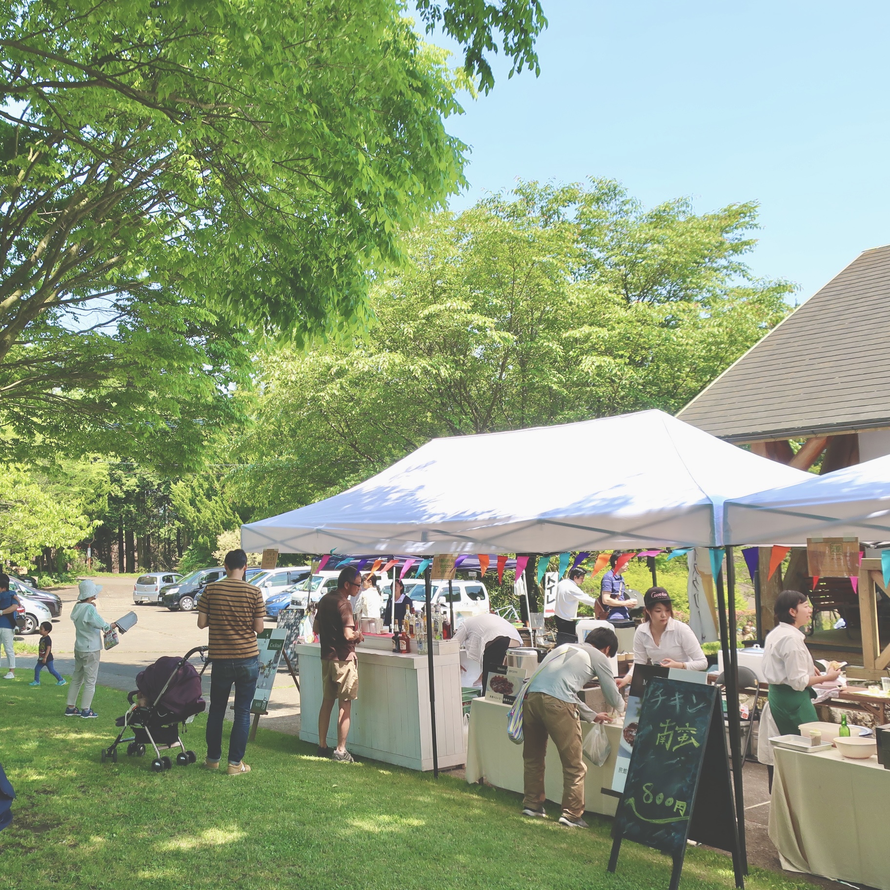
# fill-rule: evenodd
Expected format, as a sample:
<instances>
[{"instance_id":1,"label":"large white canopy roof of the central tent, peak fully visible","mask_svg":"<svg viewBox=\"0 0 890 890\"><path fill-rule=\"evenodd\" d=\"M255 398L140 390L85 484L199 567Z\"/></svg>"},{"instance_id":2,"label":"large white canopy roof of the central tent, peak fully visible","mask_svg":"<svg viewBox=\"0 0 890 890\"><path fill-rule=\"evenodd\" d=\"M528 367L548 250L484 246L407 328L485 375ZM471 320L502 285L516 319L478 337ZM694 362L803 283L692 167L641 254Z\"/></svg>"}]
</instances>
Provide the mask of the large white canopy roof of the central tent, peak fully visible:
<instances>
[{"instance_id":1,"label":"large white canopy roof of the central tent, peak fully visible","mask_svg":"<svg viewBox=\"0 0 890 890\"><path fill-rule=\"evenodd\" d=\"M247 550L556 553L723 543L724 499L806 473L663 411L434 439L317 504L241 527Z\"/></svg>"}]
</instances>

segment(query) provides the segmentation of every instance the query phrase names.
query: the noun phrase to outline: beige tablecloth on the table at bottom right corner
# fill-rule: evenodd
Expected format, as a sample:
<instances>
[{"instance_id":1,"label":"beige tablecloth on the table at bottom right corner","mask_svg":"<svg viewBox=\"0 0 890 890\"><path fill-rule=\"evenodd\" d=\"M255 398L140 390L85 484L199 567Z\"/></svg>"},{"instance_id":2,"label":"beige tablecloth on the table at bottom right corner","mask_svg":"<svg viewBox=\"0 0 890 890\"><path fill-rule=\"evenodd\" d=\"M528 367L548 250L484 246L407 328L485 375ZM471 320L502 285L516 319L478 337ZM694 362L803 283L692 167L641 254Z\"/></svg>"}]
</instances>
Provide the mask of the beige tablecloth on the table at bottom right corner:
<instances>
[{"instance_id":1,"label":"beige tablecloth on the table at bottom right corner","mask_svg":"<svg viewBox=\"0 0 890 890\"><path fill-rule=\"evenodd\" d=\"M782 867L890 890L890 770L774 748L770 839Z\"/></svg>"}]
</instances>

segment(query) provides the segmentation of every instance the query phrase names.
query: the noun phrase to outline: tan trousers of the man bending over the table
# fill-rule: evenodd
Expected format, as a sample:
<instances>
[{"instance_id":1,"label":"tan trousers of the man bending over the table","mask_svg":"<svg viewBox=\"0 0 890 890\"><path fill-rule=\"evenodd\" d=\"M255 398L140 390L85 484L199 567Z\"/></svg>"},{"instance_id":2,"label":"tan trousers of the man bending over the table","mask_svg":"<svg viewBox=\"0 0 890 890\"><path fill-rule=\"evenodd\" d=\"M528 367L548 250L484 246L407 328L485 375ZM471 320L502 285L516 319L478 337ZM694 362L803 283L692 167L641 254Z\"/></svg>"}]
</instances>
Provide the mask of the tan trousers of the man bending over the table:
<instances>
[{"instance_id":1,"label":"tan trousers of the man bending over the table","mask_svg":"<svg viewBox=\"0 0 890 890\"><path fill-rule=\"evenodd\" d=\"M522 704L522 759L525 761L523 806L544 805L544 756L547 736L554 740L562 760L562 814L578 819L584 814L584 777L587 765L581 754L578 706L554 699L546 692L529 692Z\"/></svg>"}]
</instances>

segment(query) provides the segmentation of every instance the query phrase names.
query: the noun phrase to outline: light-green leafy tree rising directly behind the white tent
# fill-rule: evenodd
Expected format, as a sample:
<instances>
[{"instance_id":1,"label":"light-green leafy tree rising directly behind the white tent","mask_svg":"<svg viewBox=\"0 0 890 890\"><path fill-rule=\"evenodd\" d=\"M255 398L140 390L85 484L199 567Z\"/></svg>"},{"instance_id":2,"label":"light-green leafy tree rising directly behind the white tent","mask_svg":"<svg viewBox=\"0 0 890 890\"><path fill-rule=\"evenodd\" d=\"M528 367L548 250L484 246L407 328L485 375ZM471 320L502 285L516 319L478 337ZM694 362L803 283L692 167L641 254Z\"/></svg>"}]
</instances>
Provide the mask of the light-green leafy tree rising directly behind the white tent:
<instances>
[{"instance_id":1,"label":"light-green leafy tree rising directly behind the white tent","mask_svg":"<svg viewBox=\"0 0 890 890\"><path fill-rule=\"evenodd\" d=\"M602 180L433 215L369 336L266 361L237 497L271 515L433 436L679 409L788 312L792 287L741 262L755 225L751 204L647 211Z\"/></svg>"}]
</instances>

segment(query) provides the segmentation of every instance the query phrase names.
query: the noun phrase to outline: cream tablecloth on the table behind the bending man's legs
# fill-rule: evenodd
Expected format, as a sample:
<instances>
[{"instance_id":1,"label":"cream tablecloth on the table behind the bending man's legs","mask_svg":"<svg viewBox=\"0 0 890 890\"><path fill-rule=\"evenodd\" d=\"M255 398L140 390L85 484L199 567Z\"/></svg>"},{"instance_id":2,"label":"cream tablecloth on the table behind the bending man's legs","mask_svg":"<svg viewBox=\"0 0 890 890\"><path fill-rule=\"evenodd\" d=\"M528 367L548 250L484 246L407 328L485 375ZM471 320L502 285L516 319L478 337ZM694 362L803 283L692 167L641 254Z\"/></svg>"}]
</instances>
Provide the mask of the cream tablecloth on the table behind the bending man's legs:
<instances>
[{"instance_id":1,"label":"cream tablecloth on the table behind the bending man's legs","mask_svg":"<svg viewBox=\"0 0 890 890\"><path fill-rule=\"evenodd\" d=\"M466 751L466 781L475 782L484 779L496 788L519 791L522 794L522 745L514 745L507 737L508 710L506 705L498 705L484 699L473 699L470 708L470 740ZM581 728L587 735L593 724L582 723ZM618 797L605 795L601 789L611 788L621 729L620 723L606 724L611 752L603 766L595 766L589 760L585 761L587 764L587 777L584 781L585 805L590 813L613 816L618 809ZM553 741L547 745L544 787L547 800L552 800L558 805L562 801L562 764Z\"/></svg>"}]
</instances>

